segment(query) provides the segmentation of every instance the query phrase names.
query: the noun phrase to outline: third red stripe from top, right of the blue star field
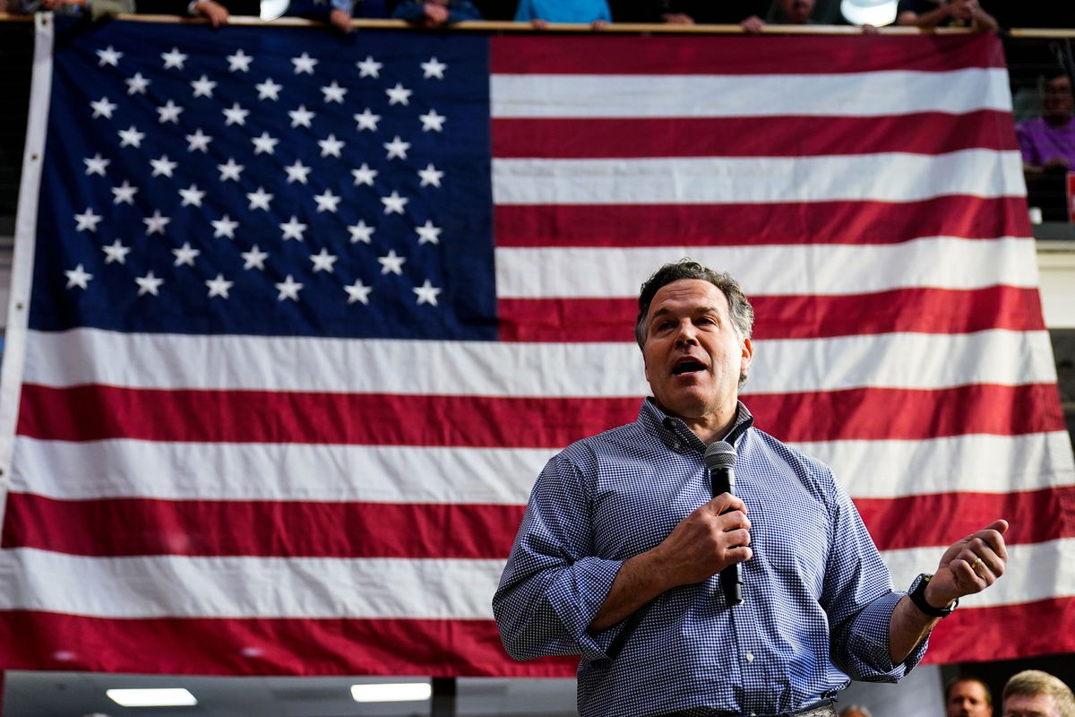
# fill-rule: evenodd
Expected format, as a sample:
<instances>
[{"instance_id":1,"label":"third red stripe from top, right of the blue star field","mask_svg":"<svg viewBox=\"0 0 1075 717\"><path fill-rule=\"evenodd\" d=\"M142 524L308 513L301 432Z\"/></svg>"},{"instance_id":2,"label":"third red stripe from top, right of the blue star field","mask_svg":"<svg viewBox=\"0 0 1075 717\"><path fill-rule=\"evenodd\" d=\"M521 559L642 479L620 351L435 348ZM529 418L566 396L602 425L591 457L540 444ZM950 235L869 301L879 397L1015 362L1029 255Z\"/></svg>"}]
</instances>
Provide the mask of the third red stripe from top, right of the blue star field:
<instances>
[{"instance_id":1,"label":"third red stripe from top, right of the blue star field","mask_svg":"<svg viewBox=\"0 0 1075 717\"><path fill-rule=\"evenodd\" d=\"M897 244L920 236L1032 235L1023 197L917 202L498 205L498 246ZM1028 239L1028 241L1030 241Z\"/></svg>"}]
</instances>

